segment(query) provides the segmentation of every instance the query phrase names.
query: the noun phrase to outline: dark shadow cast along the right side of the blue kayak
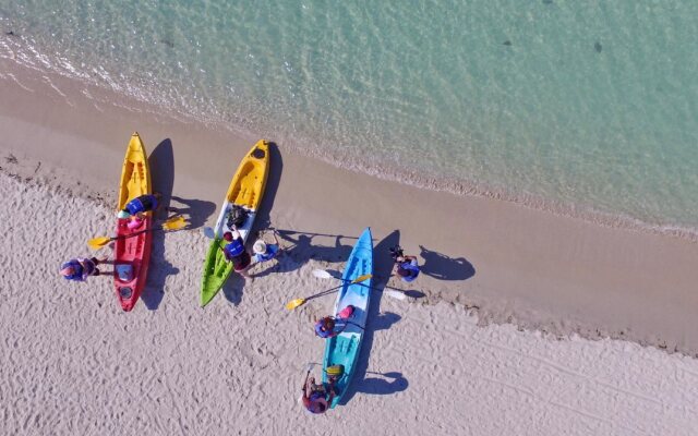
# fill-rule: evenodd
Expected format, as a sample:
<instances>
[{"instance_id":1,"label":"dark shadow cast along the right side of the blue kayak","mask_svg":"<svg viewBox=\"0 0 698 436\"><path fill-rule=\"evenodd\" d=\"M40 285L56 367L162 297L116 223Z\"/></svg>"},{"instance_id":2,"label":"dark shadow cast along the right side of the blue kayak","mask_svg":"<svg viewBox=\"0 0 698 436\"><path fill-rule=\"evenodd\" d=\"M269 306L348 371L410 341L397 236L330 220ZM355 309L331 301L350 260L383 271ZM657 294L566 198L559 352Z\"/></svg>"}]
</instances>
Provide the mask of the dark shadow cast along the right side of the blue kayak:
<instances>
[{"instance_id":1,"label":"dark shadow cast along the right side of the blue kayak","mask_svg":"<svg viewBox=\"0 0 698 436\"><path fill-rule=\"evenodd\" d=\"M376 289L384 289L390 278L390 271L393 271L393 258L388 251L389 247L398 245L400 243L400 231L394 230L385 239L378 242L373 247L373 280L371 286ZM381 298L383 292L371 292L371 301L369 302L369 314L366 317L366 328L363 331L363 340L361 343L361 352L359 354L359 361L357 362L357 370L353 375L352 382L347 388L347 392L341 397L340 404L348 403L356 392L372 393L373 391L381 392L382 395L393 393L398 390L407 389L407 380L401 375L397 377L399 383L392 385L385 380L366 380L366 373L369 368L369 358L371 356L371 349L373 348L373 336L376 330L383 330L389 328L392 325L400 319L396 314L383 314L381 315ZM399 374L399 373L398 373ZM390 387L392 386L392 387ZM396 388L400 388L397 389Z\"/></svg>"}]
</instances>

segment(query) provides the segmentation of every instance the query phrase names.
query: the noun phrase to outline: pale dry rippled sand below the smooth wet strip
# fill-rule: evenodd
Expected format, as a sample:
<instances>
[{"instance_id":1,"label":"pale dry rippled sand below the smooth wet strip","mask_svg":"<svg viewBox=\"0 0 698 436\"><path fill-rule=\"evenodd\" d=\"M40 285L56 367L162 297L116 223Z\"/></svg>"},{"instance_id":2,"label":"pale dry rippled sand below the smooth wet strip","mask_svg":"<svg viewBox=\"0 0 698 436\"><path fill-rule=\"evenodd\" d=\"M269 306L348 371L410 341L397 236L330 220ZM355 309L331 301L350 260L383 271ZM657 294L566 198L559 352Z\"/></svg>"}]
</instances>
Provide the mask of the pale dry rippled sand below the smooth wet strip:
<instances>
[{"instance_id":1,"label":"pale dry rippled sand below the smooth wet strip","mask_svg":"<svg viewBox=\"0 0 698 436\"><path fill-rule=\"evenodd\" d=\"M233 277L201 310L205 238L197 230L159 233L143 301L123 313L110 277L73 283L57 275L61 259L87 254L85 240L111 228L108 208L65 194L0 177L7 235L0 434L693 435L698 428L694 359L626 341L478 327L460 305L378 293L347 404L309 415L298 403L300 386L306 363L323 352L312 320L334 299L290 313L284 304L334 284L311 274L341 269L341 262L312 258L333 239L290 247L277 270L254 269L253 283ZM375 237L377 247L393 238Z\"/></svg>"}]
</instances>

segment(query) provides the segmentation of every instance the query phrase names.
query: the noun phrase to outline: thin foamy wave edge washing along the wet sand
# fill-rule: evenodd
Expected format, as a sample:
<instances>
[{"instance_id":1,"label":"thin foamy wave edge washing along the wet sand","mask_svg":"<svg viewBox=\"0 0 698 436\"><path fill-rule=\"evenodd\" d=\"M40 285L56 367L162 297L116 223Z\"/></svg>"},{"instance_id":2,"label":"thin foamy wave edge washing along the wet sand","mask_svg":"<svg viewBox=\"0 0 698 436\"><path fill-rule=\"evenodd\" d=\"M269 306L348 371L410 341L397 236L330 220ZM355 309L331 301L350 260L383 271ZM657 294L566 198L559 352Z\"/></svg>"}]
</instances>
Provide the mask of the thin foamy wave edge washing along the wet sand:
<instances>
[{"instance_id":1,"label":"thin foamy wave edge washing along the wet sand","mask_svg":"<svg viewBox=\"0 0 698 436\"><path fill-rule=\"evenodd\" d=\"M266 137L277 138L279 143L284 144L286 150L320 159L337 168L370 174L382 180L398 182L419 189L447 192L458 196L478 196L505 201L558 216L581 219L604 227L670 235L698 242L698 229L694 227L682 227L672 223L648 223L625 214L611 214L597 210L590 206L562 203L528 193L517 193L506 187L495 187L476 180L445 178L429 174L420 170L398 168L376 161L373 158L354 156L351 152L322 147L317 138L300 137L298 134L294 134L294 136L285 134L282 137L279 137L278 132L261 131L260 126L254 121L248 119L244 113L225 112L210 100L200 98L196 100L200 105L192 105L190 104L191 96L182 94L176 86L170 87L167 93L163 93L161 89L164 86L156 83L156 78L154 77L152 82L131 81L128 77L119 77L110 74L104 66L77 66L61 57L57 56L51 58L50 56L41 53L28 38L13 38L13 40L1 41L0 58L41 74L59 74L63 77L109 89L127 97L122 101L100 101L87 90L83 92L85 96L94 99L96 102L121 107L132 112L143 112L143 106L140 104L146 102L148 106L158 108L157 112L153 111L153 114L157 114L158 117L170 117L183 123L203 123L210 129L230 132L244 137L255 137L262 134ZM12 73L5 73L5 75L16 82L19 86L33 92L32 88L20 82ZM57 93L68 98L64 93L53 85L50 78L46 77L46 80ZM204 109L202 109L202 107Z\"/></svg>"}]
</instances>

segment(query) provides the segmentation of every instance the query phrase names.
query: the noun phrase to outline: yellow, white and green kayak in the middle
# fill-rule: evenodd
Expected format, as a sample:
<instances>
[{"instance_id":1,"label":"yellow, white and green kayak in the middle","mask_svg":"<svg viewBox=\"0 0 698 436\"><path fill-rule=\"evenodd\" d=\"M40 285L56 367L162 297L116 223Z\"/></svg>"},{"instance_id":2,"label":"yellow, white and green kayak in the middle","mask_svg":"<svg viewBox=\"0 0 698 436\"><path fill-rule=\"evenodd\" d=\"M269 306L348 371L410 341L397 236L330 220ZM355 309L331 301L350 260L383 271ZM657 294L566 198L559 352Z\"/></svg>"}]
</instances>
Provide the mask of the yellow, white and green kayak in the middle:
<instances>
[{"instance_id":1,"label":"yellow, white and green kayak in the middle","mask_svg":"<svg viewBox=\"0 0 698 436\"><path fill-rule=\"evenodd\" d=\"M228 216L233 206L240 206L245 209L248 216L244 223L238 227L238 231L242 240L246 242L264 196L268 172L269 143L265 140L260 140L240 162L228 186L226 198L220 206L220 213L214 227L214 240L208 245L206 258L204 259L201 288L202 307L206 306L216 296L233 269L232 263L227 262L222 254L222 247L227 243L222 235L232 230L228 227Z\"/></svg>"}]
</instances>

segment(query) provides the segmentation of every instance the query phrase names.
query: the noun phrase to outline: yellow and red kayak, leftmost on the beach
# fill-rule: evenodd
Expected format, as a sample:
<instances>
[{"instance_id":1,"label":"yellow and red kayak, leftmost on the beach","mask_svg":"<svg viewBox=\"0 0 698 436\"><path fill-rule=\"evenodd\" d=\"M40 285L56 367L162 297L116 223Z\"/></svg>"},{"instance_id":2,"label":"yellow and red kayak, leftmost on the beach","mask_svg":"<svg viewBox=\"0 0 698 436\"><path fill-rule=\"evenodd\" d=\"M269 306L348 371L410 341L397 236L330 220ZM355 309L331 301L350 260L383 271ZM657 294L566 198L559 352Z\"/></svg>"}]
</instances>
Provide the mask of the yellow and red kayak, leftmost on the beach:
<instances>
[{"instance_id":1,"label":"yellow and red kayak, leftmost on the beach","mask_svg":"<svg viewBox=\"0 0 698 436\"><path fill-rule=\"evenodd\" d=\"M121 210L131 199L152 193L145 146L135 132L123 160L117 208ZM136 229L129 229L128 222L129 219L117 219L113 268L115 290L121 308L125 312L133 310L145 288L151 259L153 216L152 213L146 213L143 223Z\"/></svg>"}]
</instances>

